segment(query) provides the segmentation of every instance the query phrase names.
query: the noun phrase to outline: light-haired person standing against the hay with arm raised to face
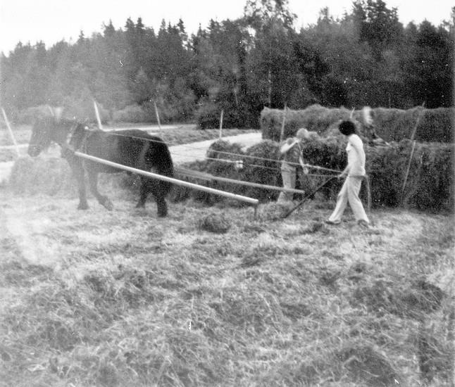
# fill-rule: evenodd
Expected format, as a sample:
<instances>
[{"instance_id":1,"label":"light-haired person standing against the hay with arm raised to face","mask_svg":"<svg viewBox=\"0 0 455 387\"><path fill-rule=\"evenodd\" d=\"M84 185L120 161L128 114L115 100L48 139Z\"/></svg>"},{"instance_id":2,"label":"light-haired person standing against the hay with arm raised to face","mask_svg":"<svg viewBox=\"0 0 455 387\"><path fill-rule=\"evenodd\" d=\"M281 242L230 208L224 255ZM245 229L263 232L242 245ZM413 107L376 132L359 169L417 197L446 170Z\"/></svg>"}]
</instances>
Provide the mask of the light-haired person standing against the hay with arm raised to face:
<instances>
[{"instance_id":1,"label":"light-haired person standing against the hay with arm raised to face","mask_svg":"<svg viewBox=\"0 0 455 387\"><path fill-rule=\"evenodd\" d=\"M282 155L281 177L284 188L295 188L297 176L297 165L303 168L304 173L308 173L308 168L304 165L302 156L301 142L309 138L309 132L304 127L297 131L296 137L289 137L280 144L280 154ZM278 202L292 201L292 192L280 192Z\"/></svg>"}]
</instances>

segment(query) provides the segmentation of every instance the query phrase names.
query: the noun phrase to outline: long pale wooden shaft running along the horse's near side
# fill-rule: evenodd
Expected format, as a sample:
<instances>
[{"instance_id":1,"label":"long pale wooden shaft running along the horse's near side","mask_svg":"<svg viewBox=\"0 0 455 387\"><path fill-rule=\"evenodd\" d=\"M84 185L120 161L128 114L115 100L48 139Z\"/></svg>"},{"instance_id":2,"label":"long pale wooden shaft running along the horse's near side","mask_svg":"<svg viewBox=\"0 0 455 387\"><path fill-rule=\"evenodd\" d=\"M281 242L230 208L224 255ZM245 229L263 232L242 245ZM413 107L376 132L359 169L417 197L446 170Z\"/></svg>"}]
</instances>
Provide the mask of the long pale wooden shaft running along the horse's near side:
<instances>
[{"instance_id":1,"label":"long pale wooden shaft running along the horse's near side","mask_svg":"<svg viewBox=\"0 0 455 387\"><path fill-rule=\"evenodd\" d=\"M95 161L96 163L101 163L101 164L104 164L104 165L108 165L110 167L118 168L120 170L125 170L125 171L128 171L128 172L137 173L137 175L143 175L143 176L146 176L146 177L151 177L153 179L163 180L164 182L170 182L170 183L173 183L173 184L177 184L179 186L187 186L188 188L198 189L199 191L205 191L205 192L208 192L209 194L216 194L216 195L220 195L220 196L225 196L227 198L236 199L238 201L244 201L245 203L249 203L249 204L252 204L252 205L255 205L255 206L258 205L258 203L259 203L258 199L249 198L247 196L242 196L242 195L237 195L237 194L231 194L230 192L220 191L219 189L209 188L208 186L201 186L199 184L194 184L194 183L190 183L190 182L184 182L184 181L179 180L179 179L174 179L173 177L158 175L158 174L153 173L153 172L147 172L147 171L144 171L144 170L137 170L136 168L127 167L126 165L122 165L122 164L118 164L118 163L113 163L112 161L104 160L104 158L97 158L95 156L87 155L86 153L75 152L74 154L77 157L85 158L87 160L92 160L92 161Z\"/></svg>"}]
</instances>

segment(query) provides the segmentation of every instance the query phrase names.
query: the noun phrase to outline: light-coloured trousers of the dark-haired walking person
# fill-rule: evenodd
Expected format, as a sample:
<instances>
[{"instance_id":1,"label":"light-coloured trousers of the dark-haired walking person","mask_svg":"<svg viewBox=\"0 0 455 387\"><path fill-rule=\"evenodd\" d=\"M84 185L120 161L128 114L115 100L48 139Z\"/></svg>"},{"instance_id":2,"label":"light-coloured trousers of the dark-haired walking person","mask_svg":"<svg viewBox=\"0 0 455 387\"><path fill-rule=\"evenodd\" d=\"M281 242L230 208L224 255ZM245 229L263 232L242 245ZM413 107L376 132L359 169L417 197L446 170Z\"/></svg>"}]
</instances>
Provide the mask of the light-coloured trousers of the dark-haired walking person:
<instances>
[{"instance_id":1,"label":"light-coloured trousers of the dark-haired walking person","mask_svg":"<svg viewBox=\"0 0 455 387\"><path fill-rule=\"evenodd\" d=\"M335 206L335 210L333 210L332 215L329 217L330 221L340 222L347 203L349 202L352 212L354 212L356 221L365 220L368 223L370 222L370 220L368 220L368 216L366 216L365 210L363 209L362 202L359 199L361 184L362 179L359 177L348 176L346 180L344 180L342 189L339 191L337 196L337 205Z\"/></svg>"}]
</instances>

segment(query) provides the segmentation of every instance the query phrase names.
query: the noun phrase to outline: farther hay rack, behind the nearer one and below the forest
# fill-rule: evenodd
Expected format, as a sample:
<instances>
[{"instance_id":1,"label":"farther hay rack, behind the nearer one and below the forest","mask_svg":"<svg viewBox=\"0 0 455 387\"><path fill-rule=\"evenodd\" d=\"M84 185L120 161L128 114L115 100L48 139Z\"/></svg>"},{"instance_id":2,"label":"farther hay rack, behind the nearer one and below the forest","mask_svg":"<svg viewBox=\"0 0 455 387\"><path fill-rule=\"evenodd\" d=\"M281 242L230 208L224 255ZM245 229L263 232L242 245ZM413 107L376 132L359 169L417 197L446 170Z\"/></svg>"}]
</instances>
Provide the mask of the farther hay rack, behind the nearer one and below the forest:
<instances>
[{"instance_id":1,"label":"farther hay rack, behind the nearer one and below the forest","mask_svg":"<svg viewBox=\"0 0 455 387\"><path fill-rule=\"evenodd\" d=\"M421 115L420 115L421 113ZM261 130L263 139L280 140L283 115L285 110L264 108L261 112ZM285 137L294 136L300 127L318 132L318 134L334 134L337 123L347 120L351 110L346 108L325 108L320 105L308 106L304 110L286 111ZM373 127L376 134L385 141L401 141L410 139L417 118L417 141L435 141L451 143L454 141L455 108L409 110L374 108L371 110ZM365 134L367 123L362 110L354 110L352 118L357 122L359 133Z\"/></svg>"}]
</instances>

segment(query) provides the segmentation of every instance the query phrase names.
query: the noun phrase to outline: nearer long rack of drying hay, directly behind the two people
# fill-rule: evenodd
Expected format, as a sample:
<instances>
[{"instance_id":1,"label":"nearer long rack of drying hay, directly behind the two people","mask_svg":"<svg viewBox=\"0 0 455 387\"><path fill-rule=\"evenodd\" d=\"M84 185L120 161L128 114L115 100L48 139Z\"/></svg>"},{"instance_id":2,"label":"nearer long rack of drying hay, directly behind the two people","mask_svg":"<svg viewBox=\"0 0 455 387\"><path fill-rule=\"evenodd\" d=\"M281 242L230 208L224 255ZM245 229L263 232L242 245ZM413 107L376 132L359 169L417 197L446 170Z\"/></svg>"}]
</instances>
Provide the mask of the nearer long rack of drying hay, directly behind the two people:
<instances>
[{"instance_id":1,"label":"nearer long rack of drying hay, directly behind the two people","mask_svg":"<svg viewBox=\"0 0 455 387\"><path fill-rule=\"evenodd\" d=\"M366 170L370 179L372 205L375 207L387 205L397 207L405 205L419 210L441 211L454 208L454 150L449 144L423 143L416 144L409 169L409 177L404 191L402 186L406 175L411 155L412 141L403 140L393 142L390 147L365 146ZM225 148L223 148L225 146ZM304 158L311 165L343 170L347 165L345 151L346 139L340 141L339 137L312 139L304 144ZM213 144L218 152L232 151L232 145L226 141L217 141ZM208 153L214 159L204 162L192 163L189 169L208 172L211 175L228 177L282 186L280 174L280 160L278 143L270 140L262 141L247 151L237 150L242 155L244 168L236 170L235 164L226 163L226 155L216 153L211 148ZM269 160L249 158L258 156ZM230 156L232 157L232 156ZM317 177L316 177L317 179ZM279 191L259 189L249 186L230 184L225 182L201 182L197 179L189 181L206 184L217 189L234 192L244 196L258 198L261 202L275 201ZM334 179L327 184L321 192L326 197L335 198L342 182ZM366 200L366 184L363 184L361 196ZM210 196L210 194L205 194ZM220 198L213 198L213 202Z\"/></svg>"}]
</instances>

